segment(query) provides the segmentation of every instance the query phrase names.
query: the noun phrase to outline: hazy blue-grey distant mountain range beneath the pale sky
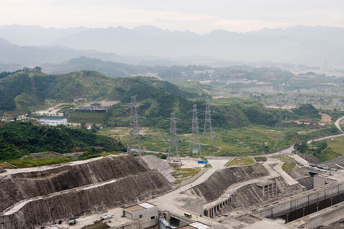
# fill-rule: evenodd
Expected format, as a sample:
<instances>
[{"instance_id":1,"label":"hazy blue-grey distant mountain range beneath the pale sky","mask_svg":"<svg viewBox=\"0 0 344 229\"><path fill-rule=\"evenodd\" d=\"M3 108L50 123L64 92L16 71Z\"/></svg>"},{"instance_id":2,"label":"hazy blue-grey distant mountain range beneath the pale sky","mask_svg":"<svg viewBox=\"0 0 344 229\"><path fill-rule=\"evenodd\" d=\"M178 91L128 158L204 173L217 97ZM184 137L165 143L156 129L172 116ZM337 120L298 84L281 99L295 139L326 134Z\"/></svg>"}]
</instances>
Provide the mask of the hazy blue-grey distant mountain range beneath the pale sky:
<instances>
[{"instance_id":1,"label":"hazy blue-grey distant mountain range beneath the pale sky","mask_svg":"<svg viewBox=\"0 0 344 229\"><path fill-rule=\"evenodd\" d=\"M298 25L247 33L214 30L198 35L150 25L134 29L44 29L13 24L0 26L0 37L17 45L0 40L0 62L6 64L38 65L43 59L58 63L84 55L127 64L198 62L213 63L214 67L234 63L229 61L262 60L319 66L320 60L327 58L330 66L344 67L344 29L324 26Z\"/></svg>"}]
</instances>

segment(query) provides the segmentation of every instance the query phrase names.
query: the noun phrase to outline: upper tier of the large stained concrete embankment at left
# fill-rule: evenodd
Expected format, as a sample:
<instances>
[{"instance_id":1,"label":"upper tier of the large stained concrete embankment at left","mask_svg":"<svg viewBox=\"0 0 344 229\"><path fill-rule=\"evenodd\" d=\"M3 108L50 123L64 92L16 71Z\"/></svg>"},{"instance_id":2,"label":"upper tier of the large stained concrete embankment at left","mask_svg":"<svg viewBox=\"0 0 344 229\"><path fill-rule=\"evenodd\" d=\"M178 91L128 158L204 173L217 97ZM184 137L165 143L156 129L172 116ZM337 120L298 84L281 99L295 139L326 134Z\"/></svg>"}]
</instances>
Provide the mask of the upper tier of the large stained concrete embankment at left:
<instances>
[{"instance_id":1,"label":"upper tier of the large stained concrete embankment at left","mask_svg":"<svg viewBox=\"0 0 344 229\"><path fill-rule=\"evenodd\" d=\"M22 199L43 196L150 170L131 155L104 157L83 164L14 173L0 179L0 212Z\"/></svg>"}]
</instances>

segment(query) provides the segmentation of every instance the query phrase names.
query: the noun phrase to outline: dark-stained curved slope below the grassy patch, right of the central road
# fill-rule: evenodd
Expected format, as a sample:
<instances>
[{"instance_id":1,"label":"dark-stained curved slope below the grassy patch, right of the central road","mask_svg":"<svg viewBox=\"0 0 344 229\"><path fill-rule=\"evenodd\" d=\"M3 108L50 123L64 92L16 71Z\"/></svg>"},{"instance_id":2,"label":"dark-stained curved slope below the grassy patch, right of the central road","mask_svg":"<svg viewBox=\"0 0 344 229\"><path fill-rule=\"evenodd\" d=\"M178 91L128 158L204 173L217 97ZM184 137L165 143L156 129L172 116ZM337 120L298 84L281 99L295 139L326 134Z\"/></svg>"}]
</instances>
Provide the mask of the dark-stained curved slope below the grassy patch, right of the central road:
<instances>
[{"instance_id":1,"label":"dark-stained curved slope below the grassy patch, right of the central road","mask_svg":"<svg viewBox=\"0 0 344 229\"><path fill-rule=\"evenodd\" d=\"M230 185L233 185L234 183L266 175L268 175L268 171L259 163L223 168L214 172L204 182L189 188L184 192L186 194L204 198L205 202L209 202L218 198Z\"/></svg>"}]
</instances>

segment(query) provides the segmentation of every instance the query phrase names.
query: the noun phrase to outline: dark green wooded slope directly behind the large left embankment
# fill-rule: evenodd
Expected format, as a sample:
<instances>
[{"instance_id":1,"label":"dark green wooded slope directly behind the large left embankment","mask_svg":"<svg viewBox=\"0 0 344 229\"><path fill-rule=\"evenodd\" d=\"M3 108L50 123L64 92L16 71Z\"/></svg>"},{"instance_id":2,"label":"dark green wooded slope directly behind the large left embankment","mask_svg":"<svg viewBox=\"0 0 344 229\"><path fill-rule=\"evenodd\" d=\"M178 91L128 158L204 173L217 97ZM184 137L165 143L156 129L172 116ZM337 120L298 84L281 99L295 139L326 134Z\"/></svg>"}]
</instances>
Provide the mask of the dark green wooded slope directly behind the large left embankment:
<instances>
[{"instance_id":1,"label":"dark green wooded slope directly behind the large left embankment","mask_svg":"<svg viewBox=\"0 0 344 229\"><path fill-rule=\"evenodd\" d=\"M4 123L0 127L0 161L47 151L71 153L75 147L95 153L125 151L120 142L81 128L36 126L31 122Z\"/></svg>"}]
</instances>

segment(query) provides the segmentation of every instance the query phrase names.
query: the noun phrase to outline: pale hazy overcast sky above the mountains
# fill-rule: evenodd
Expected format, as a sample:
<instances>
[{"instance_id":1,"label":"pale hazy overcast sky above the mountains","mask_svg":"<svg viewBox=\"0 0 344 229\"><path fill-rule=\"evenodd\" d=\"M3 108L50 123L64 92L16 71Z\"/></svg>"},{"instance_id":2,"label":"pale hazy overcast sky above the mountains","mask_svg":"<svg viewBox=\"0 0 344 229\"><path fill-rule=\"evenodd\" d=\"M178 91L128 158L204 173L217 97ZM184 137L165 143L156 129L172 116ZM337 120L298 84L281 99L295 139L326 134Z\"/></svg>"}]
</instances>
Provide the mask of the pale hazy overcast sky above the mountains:
<instances>
[{"instance_id":1,"label":"pale hazy overcast sky above the mountains","mask_svg":"<svg viewBox=\"0 0 344 229\"><path fill-rule=\"evenodd\" d=\"M0 25L132 29L149 24L198 34L298 24L344 28L343 5L343 0L0 0Z\"/></svg>"}]
</instances>

